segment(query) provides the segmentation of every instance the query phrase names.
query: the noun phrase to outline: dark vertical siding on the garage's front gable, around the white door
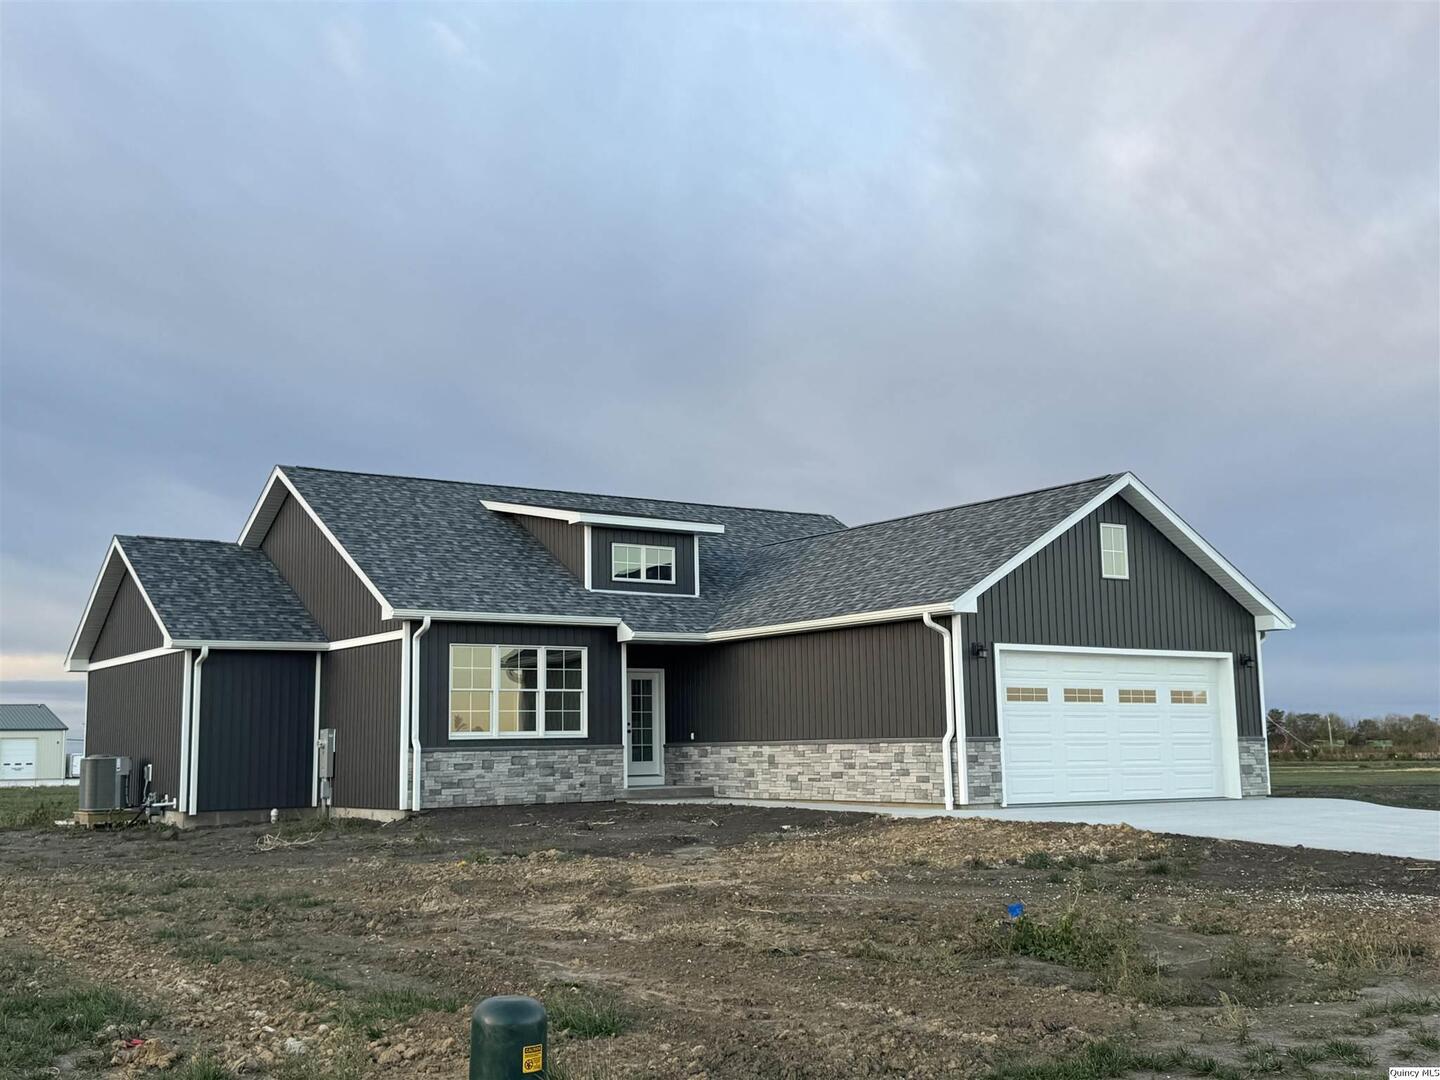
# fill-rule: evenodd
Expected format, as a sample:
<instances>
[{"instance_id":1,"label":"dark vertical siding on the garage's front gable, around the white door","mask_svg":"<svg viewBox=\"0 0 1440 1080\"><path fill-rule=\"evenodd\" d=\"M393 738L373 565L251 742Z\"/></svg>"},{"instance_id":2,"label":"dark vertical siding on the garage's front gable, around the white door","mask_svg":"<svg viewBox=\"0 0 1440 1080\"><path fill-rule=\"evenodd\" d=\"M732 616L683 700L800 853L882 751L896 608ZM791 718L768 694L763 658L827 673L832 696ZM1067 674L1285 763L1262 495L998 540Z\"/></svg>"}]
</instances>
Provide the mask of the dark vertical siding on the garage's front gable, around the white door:
<instances>
[{"instance_id":1,"label":"dark vertical siding on the garage's front gable, around the white door","mask_svg":"<svg viewBox=\"0 0 1440 1080\"><path fill-rule=\"evenodd\" d=\"M1126 526L1128 579L1100 575L1100 523ZM985 645L1084 645L1254 657L1254 616L1116 495L1021 563L963 615L966 733L994 737L995 652ZM1264 733L1259 667L1236 672L1241 736Z\"/></svg>"}]
</instances>

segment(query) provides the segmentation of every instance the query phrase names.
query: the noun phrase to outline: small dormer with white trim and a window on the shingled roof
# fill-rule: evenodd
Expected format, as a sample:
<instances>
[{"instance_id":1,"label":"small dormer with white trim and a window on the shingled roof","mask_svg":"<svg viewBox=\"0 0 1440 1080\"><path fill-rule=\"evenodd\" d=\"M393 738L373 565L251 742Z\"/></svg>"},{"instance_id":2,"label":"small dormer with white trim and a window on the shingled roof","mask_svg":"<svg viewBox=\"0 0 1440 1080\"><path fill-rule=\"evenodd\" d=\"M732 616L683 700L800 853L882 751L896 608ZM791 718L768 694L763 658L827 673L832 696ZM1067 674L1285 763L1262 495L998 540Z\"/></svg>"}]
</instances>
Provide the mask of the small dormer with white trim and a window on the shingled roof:
<instances>
[{"instance_id":1,"label":"small dormer with white trim and a window on the shingled roof","mask_svg":"<svg viewBox=\"0 0 1440 1080\"><path fill-rule=\"evenodd\" d=\"M700 595L700 541L724 533L711 521L602 514L482 500L511 517L592 592Z\"/></svg>"}]
</instances>

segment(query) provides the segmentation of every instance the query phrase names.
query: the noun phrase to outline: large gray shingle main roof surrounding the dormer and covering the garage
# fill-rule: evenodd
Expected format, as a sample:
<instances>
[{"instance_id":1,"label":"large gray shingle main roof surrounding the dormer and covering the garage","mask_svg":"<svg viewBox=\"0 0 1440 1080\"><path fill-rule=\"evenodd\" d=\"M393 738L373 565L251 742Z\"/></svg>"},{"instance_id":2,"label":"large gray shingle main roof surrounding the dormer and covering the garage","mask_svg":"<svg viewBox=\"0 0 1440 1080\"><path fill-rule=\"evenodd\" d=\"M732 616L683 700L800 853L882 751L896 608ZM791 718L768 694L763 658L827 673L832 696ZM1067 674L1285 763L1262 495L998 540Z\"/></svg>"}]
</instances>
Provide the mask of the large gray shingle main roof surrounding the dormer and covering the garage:
<instances>
[{"instance_id":1,"label":"large gray shingle main roof surrounding the dormer and covering the garage","mask_svg":"<svg viewBox=\"0 0 1440 1080\"><path fill-rule=\"evenodd\" d=\"M284 467L399 609L624 618L703 632L948 603L1116 477L845 528L795 514L668 500ZM586 592L533 536L481 500L711 521L700 596Z\"/></svg>"}]
</instances>

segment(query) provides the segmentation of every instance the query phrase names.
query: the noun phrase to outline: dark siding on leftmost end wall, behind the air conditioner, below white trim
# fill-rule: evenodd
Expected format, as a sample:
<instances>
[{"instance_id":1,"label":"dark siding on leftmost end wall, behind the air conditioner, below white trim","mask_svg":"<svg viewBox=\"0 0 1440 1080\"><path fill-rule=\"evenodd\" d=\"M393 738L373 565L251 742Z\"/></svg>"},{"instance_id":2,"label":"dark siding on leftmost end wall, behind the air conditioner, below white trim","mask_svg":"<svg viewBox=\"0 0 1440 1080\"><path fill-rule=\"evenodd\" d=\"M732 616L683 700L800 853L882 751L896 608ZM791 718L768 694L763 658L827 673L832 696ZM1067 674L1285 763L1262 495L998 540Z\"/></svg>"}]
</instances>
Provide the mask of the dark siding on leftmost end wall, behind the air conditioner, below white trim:
<instances>
[{"instance_id":1,"label":"dark siding on leftmost end wall, behind the air conditioner, below white trim","mask_svg":"<svg viewBox=\"0 0 1440 1080\"><path fill-rule=\"evenodd\" d=\"M180 792L180 706L184 652L121 664L85 675L85 753L125 755L135 765L138 802L144 766L157 795Z\"/></svg>"}]
</instances>

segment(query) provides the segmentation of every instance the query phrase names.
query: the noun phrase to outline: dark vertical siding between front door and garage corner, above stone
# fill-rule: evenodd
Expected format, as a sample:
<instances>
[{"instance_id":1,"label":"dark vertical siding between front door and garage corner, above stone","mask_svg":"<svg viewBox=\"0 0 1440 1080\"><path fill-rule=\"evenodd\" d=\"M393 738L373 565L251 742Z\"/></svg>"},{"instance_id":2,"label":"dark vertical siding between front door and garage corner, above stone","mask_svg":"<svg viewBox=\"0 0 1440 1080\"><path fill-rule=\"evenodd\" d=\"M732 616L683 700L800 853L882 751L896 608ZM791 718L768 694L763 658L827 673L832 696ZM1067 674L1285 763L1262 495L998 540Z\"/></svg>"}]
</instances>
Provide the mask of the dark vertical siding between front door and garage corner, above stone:
<instances>
[{"instance_id":1,"label":"dark vertical siding between front door and garage corner, above stone","mask_svg":"<svg viewBox=\"0 0 1440 1080\"><path fill-rule=\"evenodd\" d=\"M665 739L939 739L945 652L919 619L720 645L631 645L665 671Z\"/></svg>"}]
</instances>

